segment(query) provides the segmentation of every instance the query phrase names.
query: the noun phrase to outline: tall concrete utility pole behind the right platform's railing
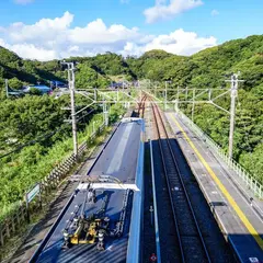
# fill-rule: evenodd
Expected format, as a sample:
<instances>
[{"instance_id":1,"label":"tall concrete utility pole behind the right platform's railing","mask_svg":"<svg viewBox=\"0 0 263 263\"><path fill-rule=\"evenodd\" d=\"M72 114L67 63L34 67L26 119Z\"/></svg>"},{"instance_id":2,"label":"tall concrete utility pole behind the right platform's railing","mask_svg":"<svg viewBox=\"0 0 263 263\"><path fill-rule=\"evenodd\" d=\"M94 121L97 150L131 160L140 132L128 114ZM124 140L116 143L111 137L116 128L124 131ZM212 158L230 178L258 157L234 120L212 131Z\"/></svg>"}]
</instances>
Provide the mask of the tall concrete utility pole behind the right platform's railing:
<instances>
[{"instance_id":1,"label":"tall concrete utility pole behind the right platform's railing","mask_svg":"<svg viewBox=\"0 0 263 263\"><path fill-rule=\"evenodd\" d=\"M235 133L235 117L236 117L236 98L238 96L238 83L243 82L243 80L238 79L239 73L233 73L231 76L231 80L227 80L231 82L231 105L230 105L230 129L229 129L229 148L228 148L228 156L229 159L232 159L233 152L233 133Z\"/></svg>"}]
</instances>

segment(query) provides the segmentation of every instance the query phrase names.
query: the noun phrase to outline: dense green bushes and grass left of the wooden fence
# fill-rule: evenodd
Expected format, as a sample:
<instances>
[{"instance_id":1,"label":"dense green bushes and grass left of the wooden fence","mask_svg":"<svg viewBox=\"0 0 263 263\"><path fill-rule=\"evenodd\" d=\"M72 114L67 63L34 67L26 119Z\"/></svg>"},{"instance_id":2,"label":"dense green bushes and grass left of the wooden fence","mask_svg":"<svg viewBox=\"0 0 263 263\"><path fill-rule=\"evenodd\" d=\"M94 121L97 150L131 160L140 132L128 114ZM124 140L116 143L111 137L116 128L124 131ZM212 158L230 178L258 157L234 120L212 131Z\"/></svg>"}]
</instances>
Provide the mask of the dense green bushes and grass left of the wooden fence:
<instances>
[{"instance_id":1,"label":"dense green bushes and grass left of the wooden fence","mask_svg":"<svg viewBox=\"0 0 263 263\"><path fill-rule=\"evenodd\" d=\"M71 125L65 123L69 113L61 110L67 101L67 96L26 95L0 102L0 224L26 191L72 152ZM84 103L80 98L77 102ZM79 144L88 140L93 122L96 127L103 122L100 111L93 110L78 123ZM110 122L123 113L123 107L113 105Z\"/></svg>"}]
</instances>

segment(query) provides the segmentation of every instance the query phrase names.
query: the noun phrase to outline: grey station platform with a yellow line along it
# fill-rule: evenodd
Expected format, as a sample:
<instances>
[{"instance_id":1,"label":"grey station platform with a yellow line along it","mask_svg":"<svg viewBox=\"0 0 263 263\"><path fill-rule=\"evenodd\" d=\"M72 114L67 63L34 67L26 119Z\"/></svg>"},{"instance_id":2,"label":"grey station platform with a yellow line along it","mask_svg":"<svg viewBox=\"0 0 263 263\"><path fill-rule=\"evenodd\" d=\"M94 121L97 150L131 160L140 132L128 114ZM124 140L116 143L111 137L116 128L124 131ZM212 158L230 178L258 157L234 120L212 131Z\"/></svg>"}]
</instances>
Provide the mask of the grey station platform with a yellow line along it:
<instances>
[{"instance_id":1,"label":"grey station platform with a yellow line along it","mask_svg":"<svg viewBox=\"0 0 263 263\"><path fill-rule=\"evenodd\" d=\"M237 259L244 263L262 263L263 202L256 199L256 207L250 202L243 188L239 188L235 171L228 169L181 115L168 112L165 116Z\"/></svg>"}]
</instances>

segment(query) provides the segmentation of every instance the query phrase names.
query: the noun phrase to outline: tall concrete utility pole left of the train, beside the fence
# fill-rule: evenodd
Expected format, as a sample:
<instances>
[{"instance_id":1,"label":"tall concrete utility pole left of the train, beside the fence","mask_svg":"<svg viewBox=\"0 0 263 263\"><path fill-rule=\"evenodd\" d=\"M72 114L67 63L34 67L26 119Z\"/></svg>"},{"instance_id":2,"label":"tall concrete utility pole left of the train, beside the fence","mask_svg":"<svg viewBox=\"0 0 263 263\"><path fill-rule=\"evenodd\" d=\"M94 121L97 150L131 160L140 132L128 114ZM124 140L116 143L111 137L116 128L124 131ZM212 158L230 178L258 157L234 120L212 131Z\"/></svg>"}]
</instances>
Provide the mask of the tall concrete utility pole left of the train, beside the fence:
<instances>
[{"instance_id":1,"label":"tall concrete utility pole left of the train, beside the fence","mask_svg":"<svg viewBox=\"0 0 263 263\"><path fill-rule=\"evenodd\" d=\"M77 137L77 118L75 107L75 65L73 62L62 62L68 67L68 84L70 91L71 103L71 122L72 122L72 137L73 137L73 155L78 159L78 137Z\"/></svg>"}]
</instances>

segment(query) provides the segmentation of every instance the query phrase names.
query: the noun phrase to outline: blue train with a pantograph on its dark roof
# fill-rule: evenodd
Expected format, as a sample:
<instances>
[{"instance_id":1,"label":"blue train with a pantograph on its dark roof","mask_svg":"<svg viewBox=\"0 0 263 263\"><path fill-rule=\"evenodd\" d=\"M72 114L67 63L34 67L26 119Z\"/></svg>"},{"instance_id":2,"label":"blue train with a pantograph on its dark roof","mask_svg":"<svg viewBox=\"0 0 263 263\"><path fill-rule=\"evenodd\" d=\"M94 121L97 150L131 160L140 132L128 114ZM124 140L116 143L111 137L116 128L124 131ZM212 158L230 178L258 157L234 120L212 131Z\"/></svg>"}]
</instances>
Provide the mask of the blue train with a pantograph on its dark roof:
<instances>
[{"instance_id":1,"label":"blue train with a pantograph on its dark roof","mask_svg":"<svg viewBox=\"0 0 263 263\"><path fill-rule=\"evenodd\" d=\"M139 247L139 221L141 217L141 188L144 167L142 119L123 121L108 144L94 160L89 178L110 178L110 182L81 182L69 199L65 210L56 222L56 228L46 238L44 248L31 262L138 262L133 250ZM85 202L88 190L95 191L95 202ZM125 211L125 213L124 213ZM122 225L119 237L105 238L105 250L99 251L96 244L72 244L64 249L64 230L75 215L85 218L110 219L110 230L115 231ZM136 219L138 218L138 219ZM70 226L71 227L71 226ZM69 227L69 229L70 229ZM137 251L139 254L139 252Z\"/></svg>"}]
</instances>

